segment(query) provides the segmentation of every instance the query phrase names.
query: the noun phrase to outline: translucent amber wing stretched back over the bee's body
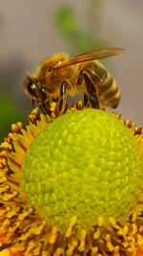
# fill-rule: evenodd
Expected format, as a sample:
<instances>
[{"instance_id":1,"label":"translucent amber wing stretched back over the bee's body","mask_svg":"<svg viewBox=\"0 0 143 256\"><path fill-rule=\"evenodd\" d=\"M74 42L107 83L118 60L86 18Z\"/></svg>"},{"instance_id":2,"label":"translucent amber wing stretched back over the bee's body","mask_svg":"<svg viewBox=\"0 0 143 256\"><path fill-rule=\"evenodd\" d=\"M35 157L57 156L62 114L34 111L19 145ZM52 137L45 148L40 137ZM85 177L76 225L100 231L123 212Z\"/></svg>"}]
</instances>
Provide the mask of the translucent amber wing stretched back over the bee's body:
<instances>
[{"instance_id":1,"label":"translucent amber wing stretched back over the bee's body","mask_svg":"<svg viewBox=\"0 0 143 256\"><path fill-rule=\"evenodd\" d=\"M66 60L65 62L62 62L62 63L58 64L57 66L55 66L54 69L59 69L59 68L63 68L66 66L76 64L76 63L91 61L94 59L109 58L112 56L117 56L120 53L122 53L122 51L123 51L123 48L119 48L119 47L114 47L114 48L111 47L111 48L106 48L106 49L101 49L101 50L92 50L91 52L87 52L87 53L78 55L74 58Z\"/></svg>"}]
</instances>

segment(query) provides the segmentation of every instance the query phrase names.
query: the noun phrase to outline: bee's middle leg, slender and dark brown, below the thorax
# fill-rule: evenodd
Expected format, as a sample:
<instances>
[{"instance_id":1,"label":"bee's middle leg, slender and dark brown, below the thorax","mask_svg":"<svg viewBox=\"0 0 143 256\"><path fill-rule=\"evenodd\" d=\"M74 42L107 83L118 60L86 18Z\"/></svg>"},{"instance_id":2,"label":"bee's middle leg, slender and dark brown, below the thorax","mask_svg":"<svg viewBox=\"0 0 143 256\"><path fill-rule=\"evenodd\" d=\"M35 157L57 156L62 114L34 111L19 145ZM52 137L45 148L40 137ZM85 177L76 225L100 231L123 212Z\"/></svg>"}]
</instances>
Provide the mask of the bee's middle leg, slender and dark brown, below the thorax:
<instances>
[{"instance_id":1,"label":"bee's middle leg, slender and dark brown, below the thorax","mask_svg":"<svg viewBox=\"0 0 143 256\"><path fill-rule=\"evenodd\" d=\"M66 112L68 108L68 101L66 95L66 81L63 81L60 87L60 99L57 104L57 115L61 115Z\"/></svg>"}]
</instances>

